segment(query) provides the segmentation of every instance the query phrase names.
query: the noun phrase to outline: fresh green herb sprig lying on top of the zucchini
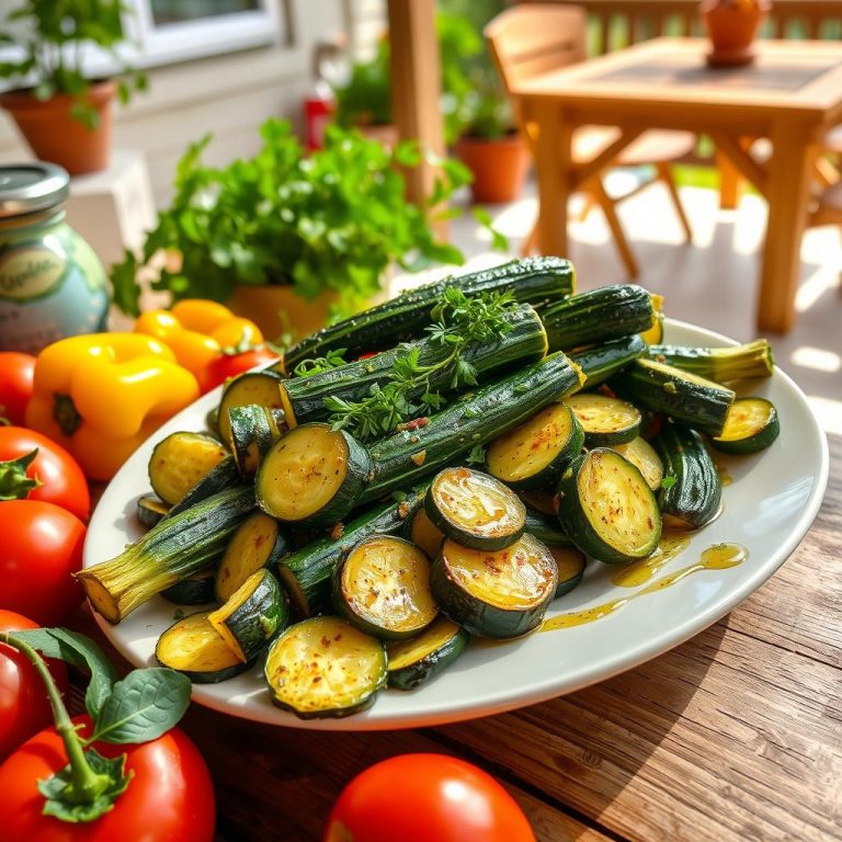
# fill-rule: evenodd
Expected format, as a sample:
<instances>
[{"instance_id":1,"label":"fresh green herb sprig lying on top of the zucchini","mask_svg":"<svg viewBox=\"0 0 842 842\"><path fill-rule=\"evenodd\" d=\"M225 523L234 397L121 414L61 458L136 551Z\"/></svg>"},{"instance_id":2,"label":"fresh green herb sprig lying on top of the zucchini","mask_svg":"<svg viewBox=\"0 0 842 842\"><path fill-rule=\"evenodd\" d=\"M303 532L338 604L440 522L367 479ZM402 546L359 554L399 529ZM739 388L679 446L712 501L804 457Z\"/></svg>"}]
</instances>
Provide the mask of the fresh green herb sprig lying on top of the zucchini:
<instances>
[{"instance_id":1,"label":"fresh green herb sprig lying on top of the zucchini","mask_svg":"<svg viewBox=\"0 0 842 842\"><path fill-rule=\"evenodd\" d=\"M468 297L456 287L444 289L432 311L435 321L426 328L431 343L444 351L442 357L422 365L421 349L408 345L396 357L389 382L373 386L363 400L326 398L333 429L348 430L365 441L441 409L446 401L440 388L457 389L477 383L477 371L465 359L465 349L508 333L512 326L505 316L516 306L510 293Z\"/></svg>"}]
</instances>

